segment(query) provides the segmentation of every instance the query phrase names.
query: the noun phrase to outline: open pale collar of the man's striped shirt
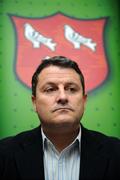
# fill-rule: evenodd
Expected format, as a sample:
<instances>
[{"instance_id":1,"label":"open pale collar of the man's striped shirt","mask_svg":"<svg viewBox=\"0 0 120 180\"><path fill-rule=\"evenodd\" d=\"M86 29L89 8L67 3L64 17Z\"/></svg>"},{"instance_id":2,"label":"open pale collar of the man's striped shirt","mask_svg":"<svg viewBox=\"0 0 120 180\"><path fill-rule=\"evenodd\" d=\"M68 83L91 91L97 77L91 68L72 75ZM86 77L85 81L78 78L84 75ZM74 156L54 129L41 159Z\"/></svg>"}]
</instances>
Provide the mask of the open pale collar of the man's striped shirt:
<instances>
[{"instance_id":1,"label":"open pale collar of the man's striped shirt","mask_svg":"<svg viewBox=\"0 0 120 180\"><path fill-rule=\"evenodd\" d=\"M41 127L41 134L42 134L43 151L44 151L45 150L45 143L51 143L52 144L52 142L46 137L45 133L43 132L42 127ZM79 150L80 150L80 147L81 147L81 125L80 125L80 129L79 129L79 133L78 133L77 137L74 139L74 141L69 146L71 146L75 142L79 143Z\"/></svg>"}]
</instances>

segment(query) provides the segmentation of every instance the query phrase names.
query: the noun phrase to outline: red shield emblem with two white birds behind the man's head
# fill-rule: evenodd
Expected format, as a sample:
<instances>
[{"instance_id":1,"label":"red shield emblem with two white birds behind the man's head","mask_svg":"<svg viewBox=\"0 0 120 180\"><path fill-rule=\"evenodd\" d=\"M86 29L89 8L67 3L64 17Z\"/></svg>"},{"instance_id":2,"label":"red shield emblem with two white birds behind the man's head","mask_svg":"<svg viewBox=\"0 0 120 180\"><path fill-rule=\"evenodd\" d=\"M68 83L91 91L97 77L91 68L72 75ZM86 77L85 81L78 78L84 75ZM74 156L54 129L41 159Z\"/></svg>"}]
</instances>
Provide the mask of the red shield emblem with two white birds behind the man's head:
<instances>
[{"instance_id":1,"label":"red shield emblem with two white birds behind the man's head","mask_svg":"<svg viewBox=\"0 0 120 180\"><path fill-rule=\"evenodd\" d=\"M108 75L104 49L106 19L80 20L61 13L45 18L11 16L16 32L16 74L31 87L31 77L41 59L56 55L75 60L86 91L100 86Z\"/></svg>"}]
</instances>

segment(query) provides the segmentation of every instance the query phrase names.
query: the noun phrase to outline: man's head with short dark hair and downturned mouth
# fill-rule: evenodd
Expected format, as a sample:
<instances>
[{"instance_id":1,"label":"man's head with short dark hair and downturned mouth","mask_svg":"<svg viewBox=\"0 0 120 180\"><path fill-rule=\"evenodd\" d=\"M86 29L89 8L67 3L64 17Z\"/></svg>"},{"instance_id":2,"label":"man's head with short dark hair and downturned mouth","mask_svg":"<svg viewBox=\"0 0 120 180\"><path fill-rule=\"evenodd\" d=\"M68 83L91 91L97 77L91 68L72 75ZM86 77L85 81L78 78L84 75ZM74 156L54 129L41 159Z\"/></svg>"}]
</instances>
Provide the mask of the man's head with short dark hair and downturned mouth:
<instances>
[{"instance_id":1,"label":"man's head with short dark hair and downturned mouth","mask_svg":"<svg viewBox=\"0 0 120 180\"><path fill-rule=\"evenodd\" d=\"M78 65L61 56L43 60L32 78L32 102L44 131L79 128L86 95Z\"/></svg>"}]
</instances>

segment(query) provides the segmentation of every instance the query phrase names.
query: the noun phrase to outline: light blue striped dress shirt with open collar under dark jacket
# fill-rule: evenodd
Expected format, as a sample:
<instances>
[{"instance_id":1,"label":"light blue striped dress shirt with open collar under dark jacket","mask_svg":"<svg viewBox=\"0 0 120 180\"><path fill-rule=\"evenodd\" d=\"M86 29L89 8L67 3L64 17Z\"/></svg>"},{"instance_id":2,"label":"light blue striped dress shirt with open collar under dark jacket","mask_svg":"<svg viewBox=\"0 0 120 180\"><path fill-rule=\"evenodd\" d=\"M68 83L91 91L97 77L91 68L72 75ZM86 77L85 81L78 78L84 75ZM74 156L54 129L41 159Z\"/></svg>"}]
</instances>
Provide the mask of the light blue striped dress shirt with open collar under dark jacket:
<instances>
[{"instance_id":1,"label":"light blue striped dress shirt with open collar under dark jacket","mask_svg":"<svg viewBox=\"0 0 120 180\"><path fill-rule=\"evenodd\" d=\"M42 128L45 180L79 180L81 128L75 140L58 152ZM62 135L62 134L61 134Z\"/></svg>"}]
</instances>

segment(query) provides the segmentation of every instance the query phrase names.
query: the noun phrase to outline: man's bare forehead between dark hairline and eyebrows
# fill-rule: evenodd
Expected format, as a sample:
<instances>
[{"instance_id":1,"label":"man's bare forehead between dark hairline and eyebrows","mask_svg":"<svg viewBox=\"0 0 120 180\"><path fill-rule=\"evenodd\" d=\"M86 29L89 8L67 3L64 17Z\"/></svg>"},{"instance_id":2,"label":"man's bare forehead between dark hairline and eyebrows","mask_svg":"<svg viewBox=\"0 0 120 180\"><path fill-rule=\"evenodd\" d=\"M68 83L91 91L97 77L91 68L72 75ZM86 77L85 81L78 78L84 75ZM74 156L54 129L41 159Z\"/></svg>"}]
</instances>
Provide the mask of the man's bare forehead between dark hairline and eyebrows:
<instances>
[{"instance_id":1,"label":"man's bare forehead between dark hairline and eyebrows","mask_svg":"<svg viewBox=\"0 0 120 180\"><path fill-rule=\"evenodd\" d=\"M72 68L49 66L38 75L38 83L76 82L80 84L79 74Z\"/></svg>"}]
</instances>

